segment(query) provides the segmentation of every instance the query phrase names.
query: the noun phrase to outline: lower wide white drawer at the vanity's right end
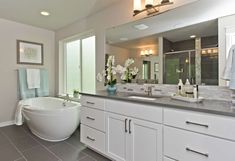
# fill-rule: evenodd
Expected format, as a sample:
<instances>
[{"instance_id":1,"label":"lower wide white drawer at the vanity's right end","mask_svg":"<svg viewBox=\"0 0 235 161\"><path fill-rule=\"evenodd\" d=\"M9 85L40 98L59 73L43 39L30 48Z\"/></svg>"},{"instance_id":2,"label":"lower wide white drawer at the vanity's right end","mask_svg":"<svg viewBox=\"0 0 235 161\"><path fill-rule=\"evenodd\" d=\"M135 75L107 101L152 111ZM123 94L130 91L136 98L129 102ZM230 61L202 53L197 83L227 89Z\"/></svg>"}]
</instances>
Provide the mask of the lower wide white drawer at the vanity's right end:
<instances>
[{"instance_id":1,"label":"lower wide white drawer at the vanity's right end","mask_svg":"<svg viewBox=\"0 0 235 161\"><path fill-rule=\"evenodd\" d=\"M180 161L234 161L235 142L164 127L164 155Z\"/></svg>"}]
</instances>

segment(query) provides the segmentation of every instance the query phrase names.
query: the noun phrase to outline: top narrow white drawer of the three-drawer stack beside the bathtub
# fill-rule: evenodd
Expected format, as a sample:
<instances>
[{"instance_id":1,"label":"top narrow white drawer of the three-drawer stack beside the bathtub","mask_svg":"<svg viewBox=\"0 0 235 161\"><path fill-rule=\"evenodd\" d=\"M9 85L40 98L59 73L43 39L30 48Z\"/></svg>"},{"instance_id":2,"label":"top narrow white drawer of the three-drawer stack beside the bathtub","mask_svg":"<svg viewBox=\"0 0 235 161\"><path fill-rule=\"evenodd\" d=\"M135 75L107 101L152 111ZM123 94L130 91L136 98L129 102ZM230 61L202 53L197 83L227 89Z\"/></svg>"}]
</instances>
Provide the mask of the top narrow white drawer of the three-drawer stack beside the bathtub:
<instances>
[{"instance_id":1,"label":"top narrow white drawer of the three-drawer stack beside the bathtub","mask_svg":"<svg viewBox=\"0 0 235 161\"><path fill-rule=\"evenodd\" d=\"M92 97L92 96L81 96L81 104L86 107L91 107L91 108L97 108L104 110L104 99L102 98L97 98L97 97Z\"/></svg>"}]
</instances>

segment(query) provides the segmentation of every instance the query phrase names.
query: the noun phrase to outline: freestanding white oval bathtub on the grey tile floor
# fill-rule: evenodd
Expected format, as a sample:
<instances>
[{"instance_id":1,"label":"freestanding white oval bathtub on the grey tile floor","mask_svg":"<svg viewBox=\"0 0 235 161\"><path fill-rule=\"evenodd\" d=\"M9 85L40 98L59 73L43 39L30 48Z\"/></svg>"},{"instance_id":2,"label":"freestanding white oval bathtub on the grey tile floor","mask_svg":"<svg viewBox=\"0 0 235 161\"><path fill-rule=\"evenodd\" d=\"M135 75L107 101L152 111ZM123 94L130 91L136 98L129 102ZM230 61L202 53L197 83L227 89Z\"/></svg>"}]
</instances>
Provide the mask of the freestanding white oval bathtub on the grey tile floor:
<instances>
[{"instance_id":1,"label":"freestanding white oval bathtub on the grey tile floor","mask_svg":"<svg viewBox=\"0 0 235 161\"><path fill-rule=\"evenodd\" d=\"M62 141L70 137L80 122L80 104L53 97L24 100L24 120L31 132L47 141Z\"/></svg>"}]
</instances>

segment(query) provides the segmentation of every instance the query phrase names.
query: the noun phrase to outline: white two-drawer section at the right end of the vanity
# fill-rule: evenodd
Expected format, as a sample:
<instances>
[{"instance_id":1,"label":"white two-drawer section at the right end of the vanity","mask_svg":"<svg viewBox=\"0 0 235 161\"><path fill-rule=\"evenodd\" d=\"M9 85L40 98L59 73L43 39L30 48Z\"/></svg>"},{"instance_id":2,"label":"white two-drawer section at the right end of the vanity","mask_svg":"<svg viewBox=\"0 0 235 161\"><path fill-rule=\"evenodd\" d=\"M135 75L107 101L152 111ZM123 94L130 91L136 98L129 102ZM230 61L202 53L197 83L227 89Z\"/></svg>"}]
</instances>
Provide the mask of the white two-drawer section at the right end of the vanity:
<instances>
[{"instance_id":1,"label":"white two-drawer section at the right end of the vanity","mask_svg":"<svg viewBox=\"0 0 235 161\"><path fill-rule=\"evenodd\" d=\"M233 117L166 108L164 155L176 161L234 161L234 121Z\"/></svg>"}]
</instances>

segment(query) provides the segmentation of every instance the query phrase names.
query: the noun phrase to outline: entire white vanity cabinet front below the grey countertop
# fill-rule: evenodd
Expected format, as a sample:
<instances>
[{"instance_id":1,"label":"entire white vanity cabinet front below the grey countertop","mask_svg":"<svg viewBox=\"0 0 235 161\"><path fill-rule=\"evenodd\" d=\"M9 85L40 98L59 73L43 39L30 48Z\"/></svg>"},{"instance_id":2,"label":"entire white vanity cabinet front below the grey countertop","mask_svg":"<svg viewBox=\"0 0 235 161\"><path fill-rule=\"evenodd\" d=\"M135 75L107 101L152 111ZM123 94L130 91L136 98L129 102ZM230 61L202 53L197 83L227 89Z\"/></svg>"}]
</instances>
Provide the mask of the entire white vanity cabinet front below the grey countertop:
<instances>
[{"instance_id":1,"label":"entire white vanity cabinet front below the grey countertop","mask_svg":"<svg viewBox=\"0 0 235 161\"><path fill-rule=\"evenodd\" d=\"M235 118L82 96L81 142L115 161L235 161Z\"/></svg>"}]
</instances>

